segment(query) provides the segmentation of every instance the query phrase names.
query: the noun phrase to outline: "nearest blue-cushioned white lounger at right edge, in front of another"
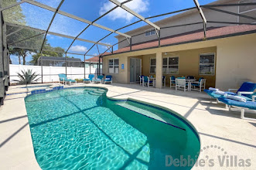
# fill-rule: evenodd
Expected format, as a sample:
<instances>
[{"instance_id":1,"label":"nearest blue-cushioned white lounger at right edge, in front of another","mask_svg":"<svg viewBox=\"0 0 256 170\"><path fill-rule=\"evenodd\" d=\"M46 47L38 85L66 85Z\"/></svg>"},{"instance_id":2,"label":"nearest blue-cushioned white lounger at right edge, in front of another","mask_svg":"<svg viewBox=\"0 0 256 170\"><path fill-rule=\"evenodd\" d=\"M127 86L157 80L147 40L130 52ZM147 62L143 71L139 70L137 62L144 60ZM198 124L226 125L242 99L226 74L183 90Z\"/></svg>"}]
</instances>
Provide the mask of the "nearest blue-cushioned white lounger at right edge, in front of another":
<instances>
[{"instance_id":1,"label":"nearest blue-cushioned white lounger at right edge, in front of another","mask_svg":"<svg viewBox=\"0 0 256 170\"><path fill-rule=\"evenodd\" d=\"M256 110L256 101L255 101L256 96L252 96L251 101L246 100L245 102L239 101L239 100L233 100L227 97L219 97L219 100L223 102L224 104L227 104L227 107L233 106L233 107L239 107L241 108L241 119L247 119L247 120L252 120L255 121L254 118L248 118L244 117L244 108L247 108L248 110Z\"/></svg>"}]
</instances>

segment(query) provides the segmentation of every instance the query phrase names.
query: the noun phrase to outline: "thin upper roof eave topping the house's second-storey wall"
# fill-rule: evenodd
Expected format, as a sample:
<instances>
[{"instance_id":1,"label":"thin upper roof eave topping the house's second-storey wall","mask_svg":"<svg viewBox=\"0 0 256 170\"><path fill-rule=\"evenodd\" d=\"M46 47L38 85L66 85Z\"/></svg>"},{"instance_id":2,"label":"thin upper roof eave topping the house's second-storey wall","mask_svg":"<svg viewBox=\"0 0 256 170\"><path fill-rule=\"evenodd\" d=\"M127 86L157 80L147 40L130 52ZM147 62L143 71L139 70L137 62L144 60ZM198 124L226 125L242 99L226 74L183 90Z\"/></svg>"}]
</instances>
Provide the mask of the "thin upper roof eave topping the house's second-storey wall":
<instances>
[{"instance_id":1,"label":"thin upper roof eave topping the house's second-storey wall","mask_svg":"<svg viewBox=\"0 0 256 170\"><path fill-rule=\"evenodd\" d=\"M236 0L218 0L218 1L215 1L215 2L208 3L207 5L226 4L227 2L233 2L233 1L236 1ZM153 23L157 26L161 26L162 24L165 25L166 22L170 22L173 19L177 19L177 18L183 17L185 15L191 15L194 12L198 12L197 8L190 9L186 12L181 12L181 13L178 13L176 15L172 15L170 17L167 17L166 19L161 19L161 20L153 22ZM150 29L150 28L152 28L152 26L145 25L145 26L142 26L142 27L138 27L137 29L132 29L128 32L125 32L125 34L128 34L128 35L131 36L134 32L139 32L139 31L142 31L142 30L145 31L146 29ZM118 36L114 36L114 37L118 39L119 37L123 37L123 36L118 35Z\"/></svg>"}]
</instances>

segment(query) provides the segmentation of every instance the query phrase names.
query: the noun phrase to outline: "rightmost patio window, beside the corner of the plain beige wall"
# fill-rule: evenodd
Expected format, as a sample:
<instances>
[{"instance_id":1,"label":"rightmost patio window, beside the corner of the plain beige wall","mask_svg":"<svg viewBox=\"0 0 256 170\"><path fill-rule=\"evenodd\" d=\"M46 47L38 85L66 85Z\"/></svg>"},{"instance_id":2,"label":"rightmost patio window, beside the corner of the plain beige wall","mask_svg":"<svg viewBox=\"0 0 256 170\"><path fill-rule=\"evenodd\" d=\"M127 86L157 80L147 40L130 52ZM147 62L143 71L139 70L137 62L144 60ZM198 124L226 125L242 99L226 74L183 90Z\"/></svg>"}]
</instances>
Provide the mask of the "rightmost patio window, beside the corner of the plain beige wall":
<instances>
[{"instance_id":1,"label":"rightmost patio window, beside the corner of the plain beige wall","mask_svg":"<svg viewBox=\"0 0 256 170\"><path fill-rule=\"evenodd\" d=\"M200 75L214 75L215 73L215 55L214 53L200 54Z\"/></svg>"}]
</instances>

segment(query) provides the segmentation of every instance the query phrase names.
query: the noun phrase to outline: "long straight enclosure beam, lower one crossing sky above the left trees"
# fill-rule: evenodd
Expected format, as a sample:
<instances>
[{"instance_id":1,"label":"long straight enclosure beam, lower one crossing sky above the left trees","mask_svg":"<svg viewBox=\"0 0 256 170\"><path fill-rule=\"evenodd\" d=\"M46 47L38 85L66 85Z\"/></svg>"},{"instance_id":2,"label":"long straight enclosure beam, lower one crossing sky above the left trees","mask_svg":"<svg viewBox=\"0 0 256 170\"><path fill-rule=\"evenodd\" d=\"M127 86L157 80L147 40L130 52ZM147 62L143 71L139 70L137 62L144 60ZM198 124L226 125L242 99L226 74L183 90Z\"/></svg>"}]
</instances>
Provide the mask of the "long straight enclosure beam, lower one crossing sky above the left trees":
<instances>
[{"instance_id":1,"label":"long straight enclosure beam, lower one crossing sky above the left trees","mask_svg":"<svg viewBox=\"0 0 256 170\"><path fill-rule=\"evenodd\" d=\"M42 29L35 29L35 28L29 27L29 26L22 26L22 25L10 23L10 22L6 22L6 25L15 26L15 27L22 28L22 29L29 29L29 30L36 31L36 32L46 33L46 31L42 30ZM56 33L56 32L48 32L48 34L53 35L53 36L61 36L61 37L68 38L68 39L75 39L76 38L74 36L67 36L67 35L63 35L63 34L60 34L60 33ZM94 42L94 41L91 41L91 40L88 40L88 39L77 38L77 40L84 41L84 42L90 42L90 43L98 43L102 46L111 46L110 44L106 44L106 43L102 43L102 42Z\"/></svg>"}]
</instances>

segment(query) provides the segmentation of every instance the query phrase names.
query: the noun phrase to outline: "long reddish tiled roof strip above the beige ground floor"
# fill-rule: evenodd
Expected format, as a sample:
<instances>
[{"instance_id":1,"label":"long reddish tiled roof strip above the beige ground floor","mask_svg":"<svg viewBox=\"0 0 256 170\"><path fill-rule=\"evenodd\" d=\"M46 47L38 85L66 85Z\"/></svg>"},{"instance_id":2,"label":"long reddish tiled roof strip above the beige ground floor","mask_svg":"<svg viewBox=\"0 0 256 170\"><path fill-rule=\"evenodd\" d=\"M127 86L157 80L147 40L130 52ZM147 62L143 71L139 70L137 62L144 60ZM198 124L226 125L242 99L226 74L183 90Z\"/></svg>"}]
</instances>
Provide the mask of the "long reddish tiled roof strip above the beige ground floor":
<instances>
[{"instance_id":1,"label":"long reddish tiled roof strip above the beige ground floor","mask_svg":"<svg viewBox=\"0 0 256 170\"><path fill-rule=\"evenodd\" d=\"M256 33L256 26L224 26L220 28L208 29L207 39L220 39L228 36L239 36L243 34ZM186 32L182 35L172 36L170 38L161 39L161 46L172 46L182 43L203 41L203 31ZM131 46L131 50L148 49L152 47L158 47L159 41L157 39L150 42L143 42L137 45ZM113 53L125 53L130 51L130 46L115 50ZM104 53L104 56L111 55L111 53Z\"/></svg>"}]
</instances>

